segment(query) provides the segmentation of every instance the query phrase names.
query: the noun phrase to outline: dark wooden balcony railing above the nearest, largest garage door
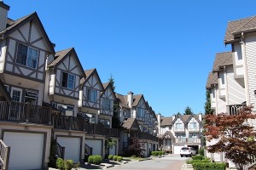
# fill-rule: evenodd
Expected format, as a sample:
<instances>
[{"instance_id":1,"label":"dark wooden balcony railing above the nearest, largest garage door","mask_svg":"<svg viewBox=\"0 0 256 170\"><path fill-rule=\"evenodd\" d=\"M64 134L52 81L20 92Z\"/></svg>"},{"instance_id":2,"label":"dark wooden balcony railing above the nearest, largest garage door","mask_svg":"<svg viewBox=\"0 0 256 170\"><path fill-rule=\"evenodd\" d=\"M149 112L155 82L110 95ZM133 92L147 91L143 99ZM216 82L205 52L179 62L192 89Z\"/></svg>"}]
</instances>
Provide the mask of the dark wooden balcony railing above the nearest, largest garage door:
<instances>
[{"instance_id":1,"label":"dark wooden balcony railing above the nearest, largest garage door","mask_svg":"<svg viewBox=\"0 0 256 170\"><path fill-rule=\"evenodd\" d=\"M9 122L32 122L51 124L50 108L15 101L0 102L0 120Z\"/></svg>"}]
</instances>

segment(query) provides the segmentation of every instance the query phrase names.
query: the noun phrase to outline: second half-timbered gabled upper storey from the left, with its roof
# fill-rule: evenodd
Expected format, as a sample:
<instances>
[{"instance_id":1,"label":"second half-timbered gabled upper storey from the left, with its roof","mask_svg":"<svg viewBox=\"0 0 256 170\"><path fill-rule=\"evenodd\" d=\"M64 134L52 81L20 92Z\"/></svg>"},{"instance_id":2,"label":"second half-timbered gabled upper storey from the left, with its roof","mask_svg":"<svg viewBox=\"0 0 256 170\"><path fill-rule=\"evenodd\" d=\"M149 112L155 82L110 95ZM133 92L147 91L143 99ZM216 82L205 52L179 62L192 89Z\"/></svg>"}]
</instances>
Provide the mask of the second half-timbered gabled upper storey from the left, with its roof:
<instances>
[{"instance_id":1,"label":"second half-timbered gabled upper storey from the left, with its roof","mask_svg":"<svg viewBox=\"0 0 256 170\"><path fill-rule=\"evenodd\" d=\"M56 52L47 61L44 101L64 109L67 116L77 116L80 80L85 75L74 48Z\"/></svg>"}]
</instances>

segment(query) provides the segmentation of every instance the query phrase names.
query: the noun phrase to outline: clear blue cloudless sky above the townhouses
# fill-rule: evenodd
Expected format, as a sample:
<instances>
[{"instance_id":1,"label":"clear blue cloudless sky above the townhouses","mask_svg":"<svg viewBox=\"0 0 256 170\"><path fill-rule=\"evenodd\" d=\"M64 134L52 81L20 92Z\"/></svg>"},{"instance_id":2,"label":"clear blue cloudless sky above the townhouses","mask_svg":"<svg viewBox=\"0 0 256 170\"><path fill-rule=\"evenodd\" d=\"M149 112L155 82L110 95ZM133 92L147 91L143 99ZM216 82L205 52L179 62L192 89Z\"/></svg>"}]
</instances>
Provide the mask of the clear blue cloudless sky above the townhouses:
<instances>
[{"instance_id":1,"label":"clear blue cloudless sky above the townhouses","mask_svg":"<svg viewBox=\"0 0 256 170\"><path fill-rule=\"evenodd\" d=\"M5 0L9 18L36 11L56 44L74 47L84 70L110 75L116 92L144 94L156 113L204 113L216 53L229 51L229 20L256 14L255 0Z\"/></svg>"}]
</instances>

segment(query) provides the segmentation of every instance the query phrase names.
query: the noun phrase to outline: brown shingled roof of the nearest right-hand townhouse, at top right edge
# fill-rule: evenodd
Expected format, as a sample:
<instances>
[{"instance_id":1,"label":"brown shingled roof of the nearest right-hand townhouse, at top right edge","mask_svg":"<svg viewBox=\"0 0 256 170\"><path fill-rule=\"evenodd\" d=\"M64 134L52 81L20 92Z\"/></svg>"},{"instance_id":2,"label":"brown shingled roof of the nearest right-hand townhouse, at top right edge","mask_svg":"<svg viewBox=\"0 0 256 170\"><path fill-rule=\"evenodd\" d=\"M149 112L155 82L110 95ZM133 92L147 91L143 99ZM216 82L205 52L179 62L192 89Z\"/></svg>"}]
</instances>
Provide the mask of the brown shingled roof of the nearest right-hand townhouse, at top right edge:
<instances>
[{"instance_id":1,"label":"brown shingled roof of the nearest right-hand townhouse, at top right edge","mask_svg":"<svg viewBox=\"0 0 256 170\"><path fill-rule=\"evenodd\" d=\"M232 20L228 22L225 32L224 42L229 43L235 40L235 35L241 32L256 31L256 15L241 20Z\"/></svg>"}]
</instances>

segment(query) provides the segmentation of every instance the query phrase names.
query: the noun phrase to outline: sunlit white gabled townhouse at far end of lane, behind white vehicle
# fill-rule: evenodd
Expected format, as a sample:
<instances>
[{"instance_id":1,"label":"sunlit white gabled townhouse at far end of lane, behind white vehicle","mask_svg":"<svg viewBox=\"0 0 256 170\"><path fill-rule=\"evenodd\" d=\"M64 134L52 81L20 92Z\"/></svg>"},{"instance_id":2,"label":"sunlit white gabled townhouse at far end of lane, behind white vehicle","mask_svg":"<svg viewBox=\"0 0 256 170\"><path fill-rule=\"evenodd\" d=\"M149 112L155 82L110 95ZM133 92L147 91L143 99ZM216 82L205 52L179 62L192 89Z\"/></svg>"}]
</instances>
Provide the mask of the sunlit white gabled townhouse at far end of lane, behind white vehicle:
<instances>
[{"instance_id":1,"label":"sunlit white gabled townhouse at far end of lane, behind white vehicle","mask_svg":"<svg viewBox=\"0 0 256 170\"><path fill-rule=\"evenodd\" d=\"M183 146L199 150L202 146L202 114L158 117L160 149L166 153L180 154Z\"/></svg>"}]
</instances>

